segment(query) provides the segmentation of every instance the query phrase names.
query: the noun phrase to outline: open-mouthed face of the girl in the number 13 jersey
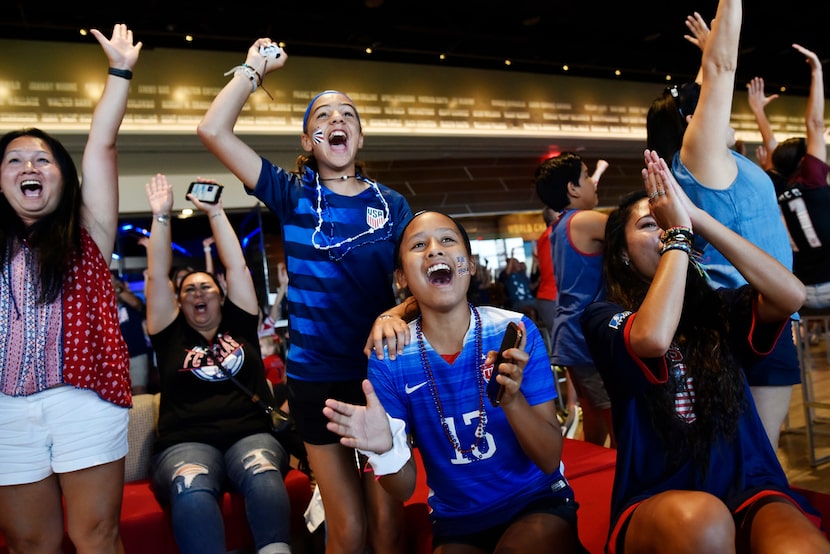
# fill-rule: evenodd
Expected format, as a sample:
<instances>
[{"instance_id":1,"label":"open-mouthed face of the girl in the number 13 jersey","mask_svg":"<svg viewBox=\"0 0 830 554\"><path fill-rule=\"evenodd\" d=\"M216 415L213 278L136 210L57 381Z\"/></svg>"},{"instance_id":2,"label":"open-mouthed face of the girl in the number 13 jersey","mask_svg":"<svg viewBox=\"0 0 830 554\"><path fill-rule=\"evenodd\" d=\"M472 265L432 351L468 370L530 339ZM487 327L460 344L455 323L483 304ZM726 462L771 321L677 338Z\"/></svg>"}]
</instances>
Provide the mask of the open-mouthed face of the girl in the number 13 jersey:
<instances>
[{"instance_id":1,"label":"open-mouthed face of the girl in the number 13 jersey","mask_svg":"<svg viewBox=\"0 0 830 554\"><path fill-rule=\"evenodd\" d=\"M401 237L398 283L419 306L447 311L467 306L467 289L476 265L464 236L444 214L415 216Z\"/></svg>"}]
</instances>

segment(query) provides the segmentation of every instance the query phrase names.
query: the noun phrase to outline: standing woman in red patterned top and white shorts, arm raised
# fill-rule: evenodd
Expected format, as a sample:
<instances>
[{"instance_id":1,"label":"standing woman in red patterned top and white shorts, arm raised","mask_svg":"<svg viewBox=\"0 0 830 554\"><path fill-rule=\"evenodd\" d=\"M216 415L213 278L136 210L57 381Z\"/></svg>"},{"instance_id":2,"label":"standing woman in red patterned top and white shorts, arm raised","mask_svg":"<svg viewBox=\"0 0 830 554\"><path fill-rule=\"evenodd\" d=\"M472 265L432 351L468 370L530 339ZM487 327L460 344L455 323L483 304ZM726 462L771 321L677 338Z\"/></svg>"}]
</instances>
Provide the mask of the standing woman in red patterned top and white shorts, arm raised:
<instances>
[{"instance_id":1,"label":"standing woman in red patterned top and white shorts, arm raised","mask_svg":"<svg viewBox=\"0 0 830 554\"><path fill-rule=\"evenodd\" d=\"M0 138L0 531L12 552L123 552L131 405L109 261L118 129L141 43L92 30L109 76L78 171L39 129ZM70 386L67 386L70 385ZM90 494L94 491L94 494Z\"/></svg>"}]
</instances>

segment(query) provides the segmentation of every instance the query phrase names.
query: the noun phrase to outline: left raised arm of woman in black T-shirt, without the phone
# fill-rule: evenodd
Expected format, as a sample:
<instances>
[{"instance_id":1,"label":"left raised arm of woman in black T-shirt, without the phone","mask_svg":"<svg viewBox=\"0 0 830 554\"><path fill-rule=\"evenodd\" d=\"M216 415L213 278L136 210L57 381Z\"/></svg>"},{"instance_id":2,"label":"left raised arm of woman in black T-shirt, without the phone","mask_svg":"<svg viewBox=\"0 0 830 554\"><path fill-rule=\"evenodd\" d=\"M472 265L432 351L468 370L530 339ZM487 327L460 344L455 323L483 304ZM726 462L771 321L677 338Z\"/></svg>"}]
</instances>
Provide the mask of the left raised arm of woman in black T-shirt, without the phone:
<instances>
[{"instance_id":1,"label":"left raised arm of woman in black T-shirt, without the phone","mask_svg":"<svg viewBox=\"0 0 830 554\"><path fill-rule=\"evenodd\" d=\"M150 237L147 239L147 271L144 296L147 299L147 332L155 335L170 325L179 314L179 304L170 285L173 264L173 238L170 213L173 210L173 187L162 174L145 185L147 202L153 213Z\"/></svg>"}]
</instances>

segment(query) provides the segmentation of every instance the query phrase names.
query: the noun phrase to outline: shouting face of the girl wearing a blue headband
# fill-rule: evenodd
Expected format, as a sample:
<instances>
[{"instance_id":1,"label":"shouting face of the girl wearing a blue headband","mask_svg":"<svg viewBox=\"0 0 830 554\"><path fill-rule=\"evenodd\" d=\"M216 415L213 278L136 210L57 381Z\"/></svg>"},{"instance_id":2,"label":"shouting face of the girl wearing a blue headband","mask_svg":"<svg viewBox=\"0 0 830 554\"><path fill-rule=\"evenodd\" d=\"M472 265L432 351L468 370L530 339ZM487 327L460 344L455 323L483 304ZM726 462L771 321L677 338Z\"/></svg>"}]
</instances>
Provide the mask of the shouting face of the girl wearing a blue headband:
<instances>
[{"instance_id":1,"label":"shouting face of the girl wearing a blue headband","mask_svg":"<svg viewBox=\"0 0 830 554\"><path fill-rule=\"evenodd\" d=\"M317 97L308 111L301 141L321 168L342 171L353 167L357 151L363 147L363 130L349 97L339 92Z\"/></svg>"}]
</instances>

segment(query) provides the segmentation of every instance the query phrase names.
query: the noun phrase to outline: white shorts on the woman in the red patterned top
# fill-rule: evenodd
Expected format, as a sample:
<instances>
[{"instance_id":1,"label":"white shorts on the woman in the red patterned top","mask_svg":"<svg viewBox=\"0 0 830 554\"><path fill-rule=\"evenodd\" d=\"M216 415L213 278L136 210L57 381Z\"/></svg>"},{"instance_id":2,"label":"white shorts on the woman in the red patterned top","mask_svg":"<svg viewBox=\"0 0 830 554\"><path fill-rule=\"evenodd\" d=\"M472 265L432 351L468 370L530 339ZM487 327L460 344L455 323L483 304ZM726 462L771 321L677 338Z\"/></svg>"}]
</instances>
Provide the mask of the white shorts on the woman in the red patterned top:
<instances>
[{"instance_id":1,"label":"white shorts on the woman in the red patterned top","mask_svg":"<svg viewBox=\"0 0 830 554\"><path fill-rule=\"evenodd\" d=\"M106 464L127 455L129 410L71 386L0 394L0 485Z\"/></svg>"}]
</instances>

